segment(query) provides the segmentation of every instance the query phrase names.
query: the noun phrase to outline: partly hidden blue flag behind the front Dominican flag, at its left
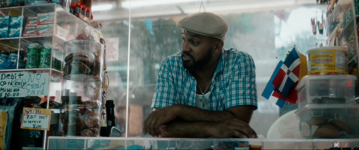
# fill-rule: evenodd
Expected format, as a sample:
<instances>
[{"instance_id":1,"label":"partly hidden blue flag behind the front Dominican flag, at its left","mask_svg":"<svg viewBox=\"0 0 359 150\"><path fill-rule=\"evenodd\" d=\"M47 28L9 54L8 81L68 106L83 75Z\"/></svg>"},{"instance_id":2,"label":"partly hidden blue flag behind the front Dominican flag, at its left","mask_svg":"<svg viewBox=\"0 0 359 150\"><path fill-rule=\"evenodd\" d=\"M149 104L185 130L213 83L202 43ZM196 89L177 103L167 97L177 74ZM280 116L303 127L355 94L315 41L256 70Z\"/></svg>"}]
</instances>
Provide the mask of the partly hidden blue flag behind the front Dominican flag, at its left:
<instances>
[{"instance_id":1,"label":"partly hidden blue flag behind the front Dominican flag, at its left","mask_svg":"<svg viewBox=\"0 0 359 150\"><path fill-rule=\"evenodd\" d=\"M262 97L266 98L267 100L269 100L272 103L275 103L277 106L279 106L280 108L283 108L285 100L283 100L284 98L280 99L279 96L277 95L274 91L274 85L272 84L272 81L274 79L274 77L278 74L278 71L280 70L280 67L283 65L283 61L280 60L278 62L278 65L275 67L272 76L270 77L266 87L264 88L263 92L262 92Z\"/></svg>"}]
</instances>

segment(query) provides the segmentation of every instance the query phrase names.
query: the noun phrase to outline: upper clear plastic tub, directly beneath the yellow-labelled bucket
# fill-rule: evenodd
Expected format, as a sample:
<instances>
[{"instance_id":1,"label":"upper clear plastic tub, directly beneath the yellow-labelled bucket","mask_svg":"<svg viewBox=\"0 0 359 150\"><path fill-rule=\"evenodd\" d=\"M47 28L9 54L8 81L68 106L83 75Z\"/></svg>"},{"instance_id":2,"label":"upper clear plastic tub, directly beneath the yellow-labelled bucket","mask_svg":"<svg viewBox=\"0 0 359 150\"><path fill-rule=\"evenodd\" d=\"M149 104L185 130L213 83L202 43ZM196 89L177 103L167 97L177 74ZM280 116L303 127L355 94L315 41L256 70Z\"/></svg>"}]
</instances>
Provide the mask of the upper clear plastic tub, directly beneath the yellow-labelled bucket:
<instances>
[{"instance_id":1,"label":"upper clear plastic tub, directly beneath the yellow-labelled bucket","mask_svg":"<svg viewBox=\"0 0 359 150\"><path fill-rule=\"evenodd\" d=\"M297 87L298 106L307 104L355 104L354 75L307 75Z\"/></svg>"}]
</instances>

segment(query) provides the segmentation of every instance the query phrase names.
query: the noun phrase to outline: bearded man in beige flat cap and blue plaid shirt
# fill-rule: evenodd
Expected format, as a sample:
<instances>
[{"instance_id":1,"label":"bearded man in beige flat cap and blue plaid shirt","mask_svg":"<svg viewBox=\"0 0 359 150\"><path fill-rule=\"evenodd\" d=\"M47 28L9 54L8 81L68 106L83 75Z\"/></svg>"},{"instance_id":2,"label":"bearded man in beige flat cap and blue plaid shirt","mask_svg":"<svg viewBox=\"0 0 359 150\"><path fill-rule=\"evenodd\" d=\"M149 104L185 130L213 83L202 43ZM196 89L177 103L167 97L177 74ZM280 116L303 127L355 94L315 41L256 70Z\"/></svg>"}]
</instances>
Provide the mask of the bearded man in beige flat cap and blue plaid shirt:
<instances>
[{"instance_id":1,"label":"bearded man in beige flat cap and blue plaid shirt","mask_svg":"<svg viewBox=\"0 0 359 150\"><path fill-rule=\"evenodd\" d=\"M157 137L257 138L248 125L257 109L255 64L223 49L228 24L213 13L177 22L181 52L165 58L144 133Z\"/></svg>"}]
</instances>

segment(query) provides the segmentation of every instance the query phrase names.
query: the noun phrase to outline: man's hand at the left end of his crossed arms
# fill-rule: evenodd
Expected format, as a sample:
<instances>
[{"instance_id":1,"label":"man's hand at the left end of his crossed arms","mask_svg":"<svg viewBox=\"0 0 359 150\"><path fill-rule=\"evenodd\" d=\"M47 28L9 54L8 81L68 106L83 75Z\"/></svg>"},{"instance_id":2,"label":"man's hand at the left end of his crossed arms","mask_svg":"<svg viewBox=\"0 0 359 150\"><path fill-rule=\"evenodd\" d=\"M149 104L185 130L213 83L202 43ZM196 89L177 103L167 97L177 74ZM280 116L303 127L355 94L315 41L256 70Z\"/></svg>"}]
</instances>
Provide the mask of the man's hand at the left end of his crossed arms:
<instances>
[{"instance_id":1,"label":"man's hand at the left end of his crossed arms","mask_svg":"<svg viewBox=\"0 0 359 150\"><path fill-rule=\"evenodd\" d=\"M175 119L177 117L176 111L176 105L155 109L145 120L143 126L143 133L148 133L152 137L158 137L159 135L161 135L159 127L162 124Z\"/></svg>"}]
</instances>

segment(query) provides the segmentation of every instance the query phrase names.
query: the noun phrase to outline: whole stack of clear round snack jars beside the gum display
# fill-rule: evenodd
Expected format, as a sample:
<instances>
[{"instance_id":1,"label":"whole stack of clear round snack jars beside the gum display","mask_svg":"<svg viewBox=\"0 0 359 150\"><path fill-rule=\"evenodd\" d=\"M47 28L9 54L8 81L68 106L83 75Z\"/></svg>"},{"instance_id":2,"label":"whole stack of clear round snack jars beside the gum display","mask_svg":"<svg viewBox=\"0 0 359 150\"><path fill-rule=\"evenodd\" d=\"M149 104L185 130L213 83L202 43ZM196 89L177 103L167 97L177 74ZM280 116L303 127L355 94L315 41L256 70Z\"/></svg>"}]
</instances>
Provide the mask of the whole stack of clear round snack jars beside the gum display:
<instances>
[{"instance_id":1,"label":"whole stack of clear round snack jars beside the gum display","mask_svg":"<svg viewBox=\"0 0 359 150\"><path fill-rule=\"evenodd\" d=\"M104 46L72 40L65 42L62 76L60 135L100 136Z\"/></svg>"}]
</instances>

